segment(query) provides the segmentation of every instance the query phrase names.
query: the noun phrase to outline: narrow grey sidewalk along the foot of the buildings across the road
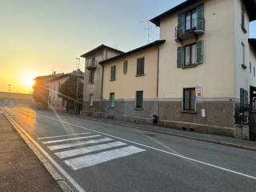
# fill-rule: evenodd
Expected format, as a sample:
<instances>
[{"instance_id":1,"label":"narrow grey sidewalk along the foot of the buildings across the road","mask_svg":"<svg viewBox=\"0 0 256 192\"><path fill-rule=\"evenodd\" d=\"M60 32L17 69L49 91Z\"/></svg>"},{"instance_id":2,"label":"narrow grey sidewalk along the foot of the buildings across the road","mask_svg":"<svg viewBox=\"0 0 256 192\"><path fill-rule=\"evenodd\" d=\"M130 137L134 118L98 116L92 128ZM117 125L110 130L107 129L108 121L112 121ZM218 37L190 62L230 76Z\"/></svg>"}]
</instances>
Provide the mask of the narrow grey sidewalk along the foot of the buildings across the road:
<instances>
[{"instance_id":1,"label":"narrow grey sidewalk along the foot of the buildings across the road","mask_svg":"<svg viewBox=\"0 0 256 192\"><path fill-rule=\"evenodd\" d=\"M78 117L78 116L75 116ZM203 142L212 142L224 146L233 146L237 148L242 148L246 150L254 150L256 151L256 142L251 142L247 140L242 140L238 138L229 138L214 134L201 134L193 131L186 131L186 130L178 130L178 129L172 129L172 128L166 128L161 126L153 126L153 125L144 125L144 124L138 124L134 122L122 122L114 119L107 119L107 118L100 118L100 117L89 117L82 115L82 118L98 121L98 122L107 122L112 123L119 126L129 126L135 129L139 130L150 130L162 134L170 134L173 136L178 136L182 138L190 138L195 139Z\"/></svg>"}]
</instances>

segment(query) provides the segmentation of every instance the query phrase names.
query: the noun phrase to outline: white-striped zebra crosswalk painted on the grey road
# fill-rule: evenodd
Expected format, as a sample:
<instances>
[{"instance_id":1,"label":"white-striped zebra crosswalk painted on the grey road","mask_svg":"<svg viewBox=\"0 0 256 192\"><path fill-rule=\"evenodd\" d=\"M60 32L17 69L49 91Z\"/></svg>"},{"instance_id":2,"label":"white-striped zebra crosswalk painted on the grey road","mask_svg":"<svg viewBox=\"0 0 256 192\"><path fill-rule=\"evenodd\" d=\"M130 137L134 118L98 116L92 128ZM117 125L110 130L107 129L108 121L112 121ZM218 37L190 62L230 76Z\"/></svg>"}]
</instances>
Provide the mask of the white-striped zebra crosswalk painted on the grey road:
<instances>
[{"instance_id":1,"label":"white-striped zebra crosswalk painted on the grey road","mask_svg":"<svg viewBox=\"0 0 256 192\"><path fill-rule=\"evenodd\" d=\"M125 142L114 141L113 138L106 138L100 134L91 132L81 134L84 136L66 134L38 138L38 140L72 170L80 170L146 151L137 146L130 146Z\"/></svg>"}]
</instances>

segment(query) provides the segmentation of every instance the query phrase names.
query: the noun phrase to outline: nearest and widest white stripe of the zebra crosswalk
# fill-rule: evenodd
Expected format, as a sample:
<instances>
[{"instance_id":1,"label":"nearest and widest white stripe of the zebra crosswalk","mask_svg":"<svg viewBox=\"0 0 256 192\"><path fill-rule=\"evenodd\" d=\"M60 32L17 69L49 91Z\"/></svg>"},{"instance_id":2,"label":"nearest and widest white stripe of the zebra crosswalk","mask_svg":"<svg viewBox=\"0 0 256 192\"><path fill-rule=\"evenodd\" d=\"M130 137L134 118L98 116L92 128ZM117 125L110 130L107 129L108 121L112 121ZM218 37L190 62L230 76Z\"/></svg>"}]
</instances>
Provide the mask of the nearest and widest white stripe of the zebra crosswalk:
<instances>
[{"instance_id":1,"label":"nearest and widest white stripe of the zebra crosswalk","mask_svg":"<svg viewBox=\"0 0 256 192\"><path fill-rule=\"evenodd\" d=\"M73 170L79 170L88 166L95 166L102 162L109 162L116 158L123 158L131 154L138 154L142 151L141 148L136 146L126 146L116 150L108 150L98 154L89 154L79 158L72 158L64 161L67 166L70 166Z\"/></svg>"}]
</instances>

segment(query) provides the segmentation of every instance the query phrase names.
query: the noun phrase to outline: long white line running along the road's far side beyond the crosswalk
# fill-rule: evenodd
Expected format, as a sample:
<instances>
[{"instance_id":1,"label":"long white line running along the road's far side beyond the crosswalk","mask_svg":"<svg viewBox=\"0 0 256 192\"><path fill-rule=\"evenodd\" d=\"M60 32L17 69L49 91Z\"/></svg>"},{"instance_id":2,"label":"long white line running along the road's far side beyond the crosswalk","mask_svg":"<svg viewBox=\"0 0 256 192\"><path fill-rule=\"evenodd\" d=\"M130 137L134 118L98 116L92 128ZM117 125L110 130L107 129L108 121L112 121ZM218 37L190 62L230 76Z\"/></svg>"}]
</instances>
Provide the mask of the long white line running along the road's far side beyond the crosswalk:
<instances>
[{"instance_id":1,"label":"long white line running along the road's far side beyond the crosswalk","mask_svg":"<svg viewBox=\"0 0 256 192\"><path fill-rule=\"evenodd\" d=\"M130 140L126 139L126 138L119 138L119 137L117 137L117 136L114 136L114 135L111 135L111 134L105 134L105 133L103 133L103 132L101 132L101 131L92 130L92 129L89 129L89 128L86 128L86 127L83 127L83 126L77 126L77 125L74 125L74 124L72 124L72 123L70 123L70 122L63 122L63 121L61 121L61 120L54 119L54 118L50 118L50 117L47 117L47 116L42 115L42 114L38 114L38 117L39 117L39 116L41 116L42 118L49 118L49 119L51 119L51 120L53 120L53 121L55 121L55 122L62 122L62 123L65 123L66 125L78 127L78 128L83 129L83 130L90 130L90 131L92 131L92 132L94 132L94 133L104 134L104 135L106 135L106 136L108 136L108 137L118 138L118 139L120 139L120 140L122 140L122 141L134 143L134 144L136 144L136 145L138 145L138 146L144 146L144 147L149 148L149 149L151 149L151 150L157 150L157 151L160 151L160 152L165 153L165 154L170 154L170 155L172 155L172 156L174 156L174 157L183 158L183 159L189 160L189 161L191 161L191 162L197 162L197 163L202 164L202 165L205 165L205 166L214 167L214 168L216 168L216 169L218 169L218 170L225 170L225 171L230 172L230 173L232 173L232 174L238 174L238 175L240 175L240 176L243 176L243 177L246 177L246 178L252 178L252 179L256 180L256 177L255 177L255 176L252 176L252 175L250 175L250 174L242 174L241 172L238 172L238 171L235 171L235 170L230 170L230 169L224 168L224 167L222 167L222 166L215 166L214 164L210 164L210 163L208 163L208 162L202 162L202 161L196 160L196 159L194 159L194 158L187 158L186 156L183 156L183 155L181 155L181 154L174 154L174 153L171 153L171 152L169 152L169 151L167 151L167 150L160 150L160 149L155 148L155 147L153 147L153 146L147 146L147 145L144 145L144 144L139 143L139 142L133 142L133 141L130 141Z\"/></svg>"}]
</instances>

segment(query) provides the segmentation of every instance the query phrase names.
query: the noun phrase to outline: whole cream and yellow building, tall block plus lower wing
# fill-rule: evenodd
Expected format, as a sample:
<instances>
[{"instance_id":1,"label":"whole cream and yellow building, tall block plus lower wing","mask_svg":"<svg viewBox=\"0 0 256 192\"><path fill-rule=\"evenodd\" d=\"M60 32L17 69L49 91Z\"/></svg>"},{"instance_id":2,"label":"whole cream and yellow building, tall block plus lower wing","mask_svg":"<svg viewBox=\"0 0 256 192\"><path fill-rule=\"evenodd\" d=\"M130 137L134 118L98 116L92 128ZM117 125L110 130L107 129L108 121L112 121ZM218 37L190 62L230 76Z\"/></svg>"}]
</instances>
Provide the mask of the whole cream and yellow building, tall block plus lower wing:
<instances>
[{"instance_id":1,"label":"whole cream and yellow building, tall block plus lower wing","mask_svg":"<svg viewBox=\"0 0 256 192\"><path fill-rule=\"evenodd\" d=\"M161 40L99 62L99 114L250 138L256 39L249 32L255 10L254 0L190 0L151 19Z\"/></svg>"}]
</instances>

